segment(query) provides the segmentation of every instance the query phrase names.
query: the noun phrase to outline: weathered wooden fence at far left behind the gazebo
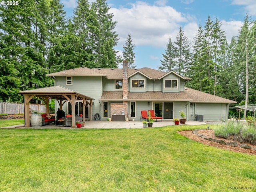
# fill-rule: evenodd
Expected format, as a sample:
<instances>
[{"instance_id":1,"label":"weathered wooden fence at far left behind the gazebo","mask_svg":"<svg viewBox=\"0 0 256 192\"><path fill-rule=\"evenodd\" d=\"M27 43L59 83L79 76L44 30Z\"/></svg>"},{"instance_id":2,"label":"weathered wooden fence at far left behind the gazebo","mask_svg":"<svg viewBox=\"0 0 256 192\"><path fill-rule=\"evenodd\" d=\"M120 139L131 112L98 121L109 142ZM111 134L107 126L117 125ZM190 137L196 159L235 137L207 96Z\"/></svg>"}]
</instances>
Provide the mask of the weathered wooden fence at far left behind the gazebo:
<instances>
[{"instance_id":1,"label":"weathered wooden fence at far left behind the gazebo","mask_svg":"<svg viewBox=\"0 0 256 192\"><path fill-rule=\"evenodd\" d=\"M30 104L30 110L46 113L46 106L42 104ZM0 102L0 114L24 114L24 103Z\"/></svg>"}]
</instances>

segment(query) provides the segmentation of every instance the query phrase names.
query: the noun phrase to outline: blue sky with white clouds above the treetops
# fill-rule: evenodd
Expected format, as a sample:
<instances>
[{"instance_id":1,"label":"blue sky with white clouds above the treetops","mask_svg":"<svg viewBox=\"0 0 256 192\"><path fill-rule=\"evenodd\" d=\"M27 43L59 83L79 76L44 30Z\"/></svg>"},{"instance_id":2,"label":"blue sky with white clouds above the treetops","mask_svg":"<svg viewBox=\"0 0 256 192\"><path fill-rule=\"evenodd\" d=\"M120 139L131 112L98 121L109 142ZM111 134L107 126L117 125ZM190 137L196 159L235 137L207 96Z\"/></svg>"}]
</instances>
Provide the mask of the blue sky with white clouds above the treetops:
<instances>
[{"instance_id":1,"label":"blue sky with white clouds above the treetops","mask_svg":"<svg viewBox=\"0 0 256 192\"><path fill-rule=\"evenodd\" d=\"M76 0L61 2L66 15L72 16ZM246 14L256 19L255 0L107 0L107 4L114 14L113 21L118 22L115 30L120 40L116 50L121 54L130 34L137 68L157 69L169 37L176 41L180 26L192 42L198 26L204 27L210 15L213 21L221 21L230 42L238 35Z\"/></svg>"}]
</instances>

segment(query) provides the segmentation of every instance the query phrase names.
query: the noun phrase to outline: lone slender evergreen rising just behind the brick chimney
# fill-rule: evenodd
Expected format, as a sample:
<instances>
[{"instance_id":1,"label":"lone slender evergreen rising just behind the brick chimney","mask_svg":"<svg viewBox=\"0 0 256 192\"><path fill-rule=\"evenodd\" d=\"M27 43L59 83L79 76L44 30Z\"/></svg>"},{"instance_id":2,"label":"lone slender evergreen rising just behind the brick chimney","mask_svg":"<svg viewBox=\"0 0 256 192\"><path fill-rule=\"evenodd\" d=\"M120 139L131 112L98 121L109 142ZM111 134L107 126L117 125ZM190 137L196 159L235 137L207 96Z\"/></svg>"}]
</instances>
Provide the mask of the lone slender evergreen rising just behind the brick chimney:
<instances>
[{"instance_id":1,"label":"lone slender evergreen rising just behind the brick chimney","mask_svg":"<svg viewBox=\"0 0 256 192\"><path fill-rule=\"evenodd\" d=\"M134 48L135 45L132 43L132 38L131 35L128 34L128 37L125 42L125 46L123 46L124 51L123 51L123 60L128 61L128 68L134 69L136 66L134 66L134 58L135 58L135 53L134 53Z\"/></svg>"}]
</instances>

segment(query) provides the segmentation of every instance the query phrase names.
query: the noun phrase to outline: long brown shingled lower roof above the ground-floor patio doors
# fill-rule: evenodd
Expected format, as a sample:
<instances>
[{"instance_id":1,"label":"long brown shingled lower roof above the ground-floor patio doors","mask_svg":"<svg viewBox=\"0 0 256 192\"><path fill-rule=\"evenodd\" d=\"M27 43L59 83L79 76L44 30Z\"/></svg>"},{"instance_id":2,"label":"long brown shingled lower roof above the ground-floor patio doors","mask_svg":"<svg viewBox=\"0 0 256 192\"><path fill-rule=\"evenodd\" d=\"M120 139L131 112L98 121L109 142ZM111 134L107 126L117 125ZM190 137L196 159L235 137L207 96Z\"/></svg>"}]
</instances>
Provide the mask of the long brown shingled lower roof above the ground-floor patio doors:
<instances>
[{"instance_id":1,"label":"long brown shingled lower roof above the ground-floor patio doors","mask_svg":"<svg viewBox=\"0 0 256 192\"><path fill-rule=\"evenodd\" d=\"M115 98L115 99L113 99ZM122 92L120 91L103 91L100 100L122 101ZM128 92L128 99L133 101L190 101L196 103L236 103L235 101L225 99L212 94L197 91L191 88L185 88L179 93L163 93L161 91L147 91L143 93Z\"/></svg>"}]
</instances>

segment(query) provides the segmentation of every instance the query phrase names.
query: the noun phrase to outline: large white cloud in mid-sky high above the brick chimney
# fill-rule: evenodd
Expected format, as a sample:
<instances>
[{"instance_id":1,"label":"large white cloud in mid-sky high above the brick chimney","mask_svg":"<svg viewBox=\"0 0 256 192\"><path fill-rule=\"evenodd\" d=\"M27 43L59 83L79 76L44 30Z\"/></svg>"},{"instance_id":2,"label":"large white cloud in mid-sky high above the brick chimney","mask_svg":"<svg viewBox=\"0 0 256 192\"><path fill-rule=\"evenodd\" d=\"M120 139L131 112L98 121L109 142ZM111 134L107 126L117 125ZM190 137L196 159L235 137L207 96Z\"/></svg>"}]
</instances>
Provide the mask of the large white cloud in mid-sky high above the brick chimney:
<instances>
[{"instance_id":1,"label":"large white cloud in mid-sky high above the brick chimney","mask_svg":"<svg viewBox=\"0 0 256 192\"><path fill-rule=\"evenodd\" d=\"M110 12L118 22L115 30L120 38L119 46L123 46L131 34L135 45L165 47L169 37L176 38L179 27L188 23L189 28L193 19L170 6L152 6L141 1L131 4L130 8L111 8Z\"/></svg>"}]
</instances>

